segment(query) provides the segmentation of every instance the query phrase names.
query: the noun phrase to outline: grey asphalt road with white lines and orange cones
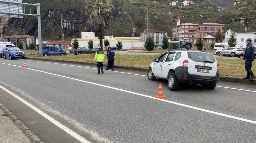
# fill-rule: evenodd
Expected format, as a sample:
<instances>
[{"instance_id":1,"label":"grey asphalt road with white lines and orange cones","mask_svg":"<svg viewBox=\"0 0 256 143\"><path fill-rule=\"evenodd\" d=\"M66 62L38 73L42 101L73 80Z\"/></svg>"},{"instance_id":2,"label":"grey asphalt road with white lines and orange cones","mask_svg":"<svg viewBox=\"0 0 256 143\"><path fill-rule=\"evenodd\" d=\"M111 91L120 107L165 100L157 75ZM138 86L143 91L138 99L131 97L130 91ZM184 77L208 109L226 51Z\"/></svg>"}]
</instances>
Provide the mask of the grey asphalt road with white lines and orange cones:
<instances>
[{"instance_id":1,"label":"grey asphalt road with white lines and orange cones","mask_svg":"<svg viewBox=\"0 0 256 143\"><path fill-rule=\"evenodd\" d=\"M90 142L256 142L255 86L184 84L174 92L166 80L149 81L146 73L97 75L95 67L26 62L30 69L17 67L23 60L1 58L0 85ZM154 98L159 83L165 100ZM1 89L0 102L45 143L79 142Z\"/></svg>"}]
</instances>

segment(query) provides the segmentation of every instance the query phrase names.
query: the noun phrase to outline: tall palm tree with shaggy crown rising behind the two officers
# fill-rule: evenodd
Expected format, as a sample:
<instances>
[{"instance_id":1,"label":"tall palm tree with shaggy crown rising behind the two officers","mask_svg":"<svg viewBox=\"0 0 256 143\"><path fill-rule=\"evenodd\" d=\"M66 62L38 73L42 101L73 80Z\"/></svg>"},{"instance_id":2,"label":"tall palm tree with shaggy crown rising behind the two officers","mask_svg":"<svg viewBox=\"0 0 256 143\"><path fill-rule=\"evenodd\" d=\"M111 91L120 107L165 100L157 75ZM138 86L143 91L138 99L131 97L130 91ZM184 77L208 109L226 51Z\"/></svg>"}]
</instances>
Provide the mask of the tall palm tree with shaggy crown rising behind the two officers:
<instances>
[{"instance_id":1,"label":"tall palm tree with shaggy crown rising behind the two officers","mask_svg":"<svg viewBox=\"0 0 256 143\"><path fill-rule=\"evenodd\" d=\"M100 46L103 48L102 42L102 26L105 25L104 19L110 21L110 13L114 8L111 0L87 0L88 6L86 7L85 14L90 14L90 18L94 19L95 23L99 26L99 39Z\"/></svg>"}]
</instances>

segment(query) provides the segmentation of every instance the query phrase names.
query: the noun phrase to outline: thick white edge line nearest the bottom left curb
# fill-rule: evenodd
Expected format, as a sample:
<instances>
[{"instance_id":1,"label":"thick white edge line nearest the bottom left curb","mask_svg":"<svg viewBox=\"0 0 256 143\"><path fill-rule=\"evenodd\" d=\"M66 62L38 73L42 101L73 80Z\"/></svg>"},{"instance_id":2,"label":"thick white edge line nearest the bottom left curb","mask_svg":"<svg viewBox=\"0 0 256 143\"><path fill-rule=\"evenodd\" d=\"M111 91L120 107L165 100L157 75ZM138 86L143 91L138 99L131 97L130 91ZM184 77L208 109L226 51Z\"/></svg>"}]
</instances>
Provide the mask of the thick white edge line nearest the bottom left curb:
<instances>
[{"instance_id":1,"label":"thick white edge line nearest the bottom left curb","mask_svg":"<svg viewBox=\"0 0 256 143\"><path fill-rule=\"evenodd\" d=\"M52 122L53 124L55 124L56 126L58 126L59 128L61 128L63 131L65 131L66 133L70 134L71 136L73 136L76 140L80 141L81 143L91 143L88 140L84 139L81 135L77 134L76 132L74 132L73 130L67 128L65 125L63 125L62 123L58 122L57 120L55 120L54 118L52 118L51 116L49 116L48 114L46 114L45 112L43 112L42 110L38 109L37 107L35 107L34 105L32 105L31 103L27 102L26 100L24 100L23 98L19 97L18 95L14 94L13 92L11 92L10 90L4 88L3 86L0 85L0 88L2 88L4 91L6 91L7 93L9 93L10 95L12 95L13 97L17 98L18 100L20 100L22 103L26 104L28 107L30 107L31 109L35 110L37 113L39 113L40 115L42 115L44 118L46 118L47 120L49 120L50 122Z\"/></svg>"}]
</instances>

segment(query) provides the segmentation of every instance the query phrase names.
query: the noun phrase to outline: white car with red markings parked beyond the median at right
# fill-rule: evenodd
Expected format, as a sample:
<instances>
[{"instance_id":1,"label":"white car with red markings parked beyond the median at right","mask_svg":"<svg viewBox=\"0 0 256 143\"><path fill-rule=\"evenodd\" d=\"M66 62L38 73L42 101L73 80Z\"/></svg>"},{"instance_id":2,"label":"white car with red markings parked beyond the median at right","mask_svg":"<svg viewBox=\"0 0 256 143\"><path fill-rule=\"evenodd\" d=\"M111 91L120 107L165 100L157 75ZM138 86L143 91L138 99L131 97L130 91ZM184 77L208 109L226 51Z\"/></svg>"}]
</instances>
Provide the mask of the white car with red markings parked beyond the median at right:
<instances>
[{"instance_id":1,"label":"white car with red markings parked beyond the median at right","mask_svg":"<svg viewBox=\"0 0 256 143\"><path fill-rule=\"evenodd\" d=\"M235 57L239 53L242 53L242 52L244 52L244 50L242 48L239 48L239 47L226 47L226 48L223 48L222 50L216 50L215 55Z\"/></svg>"}]
</instances>

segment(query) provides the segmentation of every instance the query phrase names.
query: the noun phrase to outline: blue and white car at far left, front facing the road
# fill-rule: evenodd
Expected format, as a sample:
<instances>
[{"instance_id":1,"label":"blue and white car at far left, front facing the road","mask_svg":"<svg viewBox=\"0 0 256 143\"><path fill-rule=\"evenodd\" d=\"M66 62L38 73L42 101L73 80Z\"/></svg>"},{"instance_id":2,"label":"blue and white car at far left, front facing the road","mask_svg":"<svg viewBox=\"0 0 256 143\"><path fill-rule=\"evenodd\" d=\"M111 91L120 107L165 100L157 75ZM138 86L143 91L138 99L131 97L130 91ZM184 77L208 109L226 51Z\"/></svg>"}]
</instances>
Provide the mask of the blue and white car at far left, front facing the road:
<instances>
[{"instance_id":1,"label":"blue and white car at far left, front facing the road","mask_svg":"<svg viewBox=\"0 0 256 143\"><path fill-rule=\"evenodd\" d=\"M3 54L3 58L6 59L7 57L9 57L9 59L13 59L13 58L25 58L25 53L20 50L20 48L18 47L14 47L14 46L9 46L8 48L4 48L2 50L2 54Z\"/></svg>"}]
</instances>

